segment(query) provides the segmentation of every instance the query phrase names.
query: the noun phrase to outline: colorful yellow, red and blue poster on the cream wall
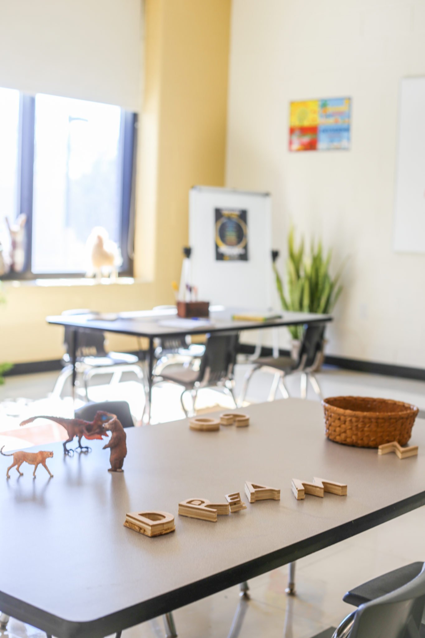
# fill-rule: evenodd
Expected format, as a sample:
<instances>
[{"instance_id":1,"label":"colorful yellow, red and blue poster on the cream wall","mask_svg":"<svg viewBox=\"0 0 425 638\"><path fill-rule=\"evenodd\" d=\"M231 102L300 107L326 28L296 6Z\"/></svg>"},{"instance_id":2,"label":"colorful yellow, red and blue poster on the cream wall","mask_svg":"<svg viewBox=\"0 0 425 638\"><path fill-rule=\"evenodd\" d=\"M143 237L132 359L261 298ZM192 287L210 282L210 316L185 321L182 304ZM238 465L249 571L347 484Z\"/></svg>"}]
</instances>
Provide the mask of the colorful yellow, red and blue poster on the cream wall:
<instances>
[{"instance_id":1,"label":"colorful yellow, red and blue poster on the cream wall","mask_svg":"<svg viewBox=\"0 0 425 638\"><path fill-rule=\"evenodd\" d=\"M350 98L291 102L289 151L347 151L350 118Z\"/></svg>"}]
</instances>

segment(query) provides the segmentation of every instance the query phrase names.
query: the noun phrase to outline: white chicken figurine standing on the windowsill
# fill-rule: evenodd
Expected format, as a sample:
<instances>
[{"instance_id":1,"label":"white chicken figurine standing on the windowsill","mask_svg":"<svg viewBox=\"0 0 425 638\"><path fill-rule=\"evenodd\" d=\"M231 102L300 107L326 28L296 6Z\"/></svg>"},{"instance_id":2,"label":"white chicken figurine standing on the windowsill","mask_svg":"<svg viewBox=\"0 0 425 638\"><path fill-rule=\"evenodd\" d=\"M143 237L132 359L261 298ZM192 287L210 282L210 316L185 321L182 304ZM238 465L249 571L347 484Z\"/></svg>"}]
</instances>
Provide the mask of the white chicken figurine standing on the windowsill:
<instances>
[{"instance_id":1,"label":"white chicken figurine standing on the windowsill","mask_svg":"<svg viewBox=\"0 0 425 638\"><path fill-rule=\"evenodd\" d=\"M102 226L93 228L87 239L86 248L90 264L86 276L116 279L117 269L122 265L122 256L117 244L109 239L108 231Z\"/></svg>"}]
</instances>

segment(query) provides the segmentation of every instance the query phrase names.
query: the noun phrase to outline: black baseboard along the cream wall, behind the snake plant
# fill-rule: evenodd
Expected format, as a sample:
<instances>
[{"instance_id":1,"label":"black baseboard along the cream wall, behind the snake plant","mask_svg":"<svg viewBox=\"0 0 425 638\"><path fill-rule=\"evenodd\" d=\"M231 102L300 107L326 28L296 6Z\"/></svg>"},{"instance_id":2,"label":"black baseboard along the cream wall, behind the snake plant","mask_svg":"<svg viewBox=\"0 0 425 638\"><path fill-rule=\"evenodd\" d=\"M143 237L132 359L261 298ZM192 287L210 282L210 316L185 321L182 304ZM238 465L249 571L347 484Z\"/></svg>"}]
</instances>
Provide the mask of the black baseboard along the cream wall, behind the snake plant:
<instances>
[{"instance_id":1,"label":"black baseboard along the cream wall, behind the snake plant","mask_svg":"<svg viewBox=\"0 0 425 638\"><path fill-rule=\"evenodd\" d=\"M240 352L245 354L254 353L255 346L247 343L241 343ZM261 348L261 357L271 357L272 348ZM282 357L289 355L289 350L279 350ZM325 365L339 367L342 370L354 370L357 372L368 372L371 375L399 376L405 379L415 379L417 381L425 381L425 369L421 367L396 366L389 363L378 363L375 361L364 361L361 359L347 359L347 357L335 357L334 355L326 355Z\"/></svg>"}]
</instances>

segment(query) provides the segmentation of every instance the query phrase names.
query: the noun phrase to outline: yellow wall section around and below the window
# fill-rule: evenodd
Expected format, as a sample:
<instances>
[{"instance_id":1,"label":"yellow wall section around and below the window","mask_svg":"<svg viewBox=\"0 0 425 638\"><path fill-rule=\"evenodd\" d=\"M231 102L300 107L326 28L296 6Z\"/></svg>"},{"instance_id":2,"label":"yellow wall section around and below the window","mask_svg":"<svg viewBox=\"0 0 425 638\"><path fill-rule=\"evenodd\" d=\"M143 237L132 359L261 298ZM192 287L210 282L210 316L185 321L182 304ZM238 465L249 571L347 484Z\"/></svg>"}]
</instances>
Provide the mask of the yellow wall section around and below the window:
<instances>
[{"instance_id":1,"label":"yellow wall section around and below the window","mask_svg":"<svg viewBox=\"0 0 425 638\"><path fill-rule=\"evenodd\" d=\"M173 301L188 241L194 184L224 184L231 0L145 0L145 87L139 130L133 285L6 284L0 360L59 359L62 334L46 315L122 311ZM110 335L110 348L136 350Z\"/></svg>"}]
</instances>

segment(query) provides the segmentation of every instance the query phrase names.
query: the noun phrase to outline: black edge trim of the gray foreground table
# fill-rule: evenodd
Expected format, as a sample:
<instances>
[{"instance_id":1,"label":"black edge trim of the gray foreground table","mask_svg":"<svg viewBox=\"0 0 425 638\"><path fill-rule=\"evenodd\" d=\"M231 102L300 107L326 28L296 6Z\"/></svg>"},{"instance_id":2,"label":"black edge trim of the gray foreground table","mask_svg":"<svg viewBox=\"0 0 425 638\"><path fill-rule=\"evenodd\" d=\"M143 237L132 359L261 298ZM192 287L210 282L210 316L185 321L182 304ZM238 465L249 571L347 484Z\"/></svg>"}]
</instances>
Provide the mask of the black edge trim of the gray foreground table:
<instances>
[{"instance_id":1,"label":"black edge trim of the gray foreground table","mask_svg":"<svg viewBox=\"0 0 425 638\"><path fill-rule=\"evenodd\" d=\"M225 590L240 582L270 572L277 567L282 567L282 565L287 565L287 563L299 560L308 556L308 554L329 547L329 545L335 545L342 540L352 538L363 531L370 530L377 525L422 507L422 505L425 505L425 491L398 501L398 503L393 503L376 512L366 514L366 516L349 523L344 523L332 530L306 538L284 549L278 549L270 554L260 556L248 563L243 563L243 565L224 570L219 572L219 574L214 574L177 590L151 598L143 603L113 612L113 614L104 616L104 618L84 622L69 621L44 612L38 607L20 602L17 598L8 596L1 591L0 610L8 614L8 616L29 623L47 634L55 635L57 638L104 638L119 630L134 627L134 625L161 616L169 611L178 609L178 607L184 607L184 605L196 602L196 600ZM191 560L189 556L188 560ZM105 595L108 595L108 583L105 583ZM237 600L235 599L235 604L236 602Z\"/></svg>"}]
</instances>

